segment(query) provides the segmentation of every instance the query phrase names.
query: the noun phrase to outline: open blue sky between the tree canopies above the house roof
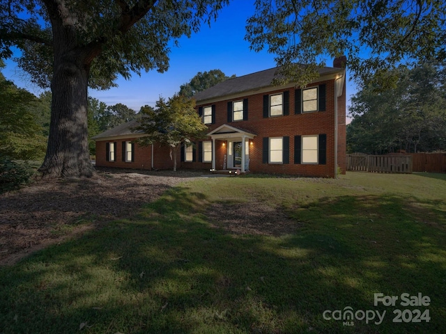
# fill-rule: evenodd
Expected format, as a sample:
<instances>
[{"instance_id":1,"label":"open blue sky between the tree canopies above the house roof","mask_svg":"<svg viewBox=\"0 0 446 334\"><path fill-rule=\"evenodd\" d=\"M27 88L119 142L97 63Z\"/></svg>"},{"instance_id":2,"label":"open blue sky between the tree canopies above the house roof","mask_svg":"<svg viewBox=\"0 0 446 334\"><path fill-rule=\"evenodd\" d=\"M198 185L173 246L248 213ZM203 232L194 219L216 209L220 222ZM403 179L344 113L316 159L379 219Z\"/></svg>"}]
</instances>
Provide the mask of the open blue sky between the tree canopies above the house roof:
<instances>
[{"instance_id":1,"label":"open blue sky between the tree canopies above the house roof","mask_svg":"<svg viewBox=\"0 0 446 334\"><path fill-rule=\"evenodd\" d=\"M244 40L246 20L254 13L253 3L233 0L210 27L203 24L199 33L191 38L181 38L179 47L171 47L167 72L151 71L141 77L134 74L128 81L118 79L118 88L89 90L89 94L107 105L123 103L139 111L146 104L154 106L160 96L171 97L180 90L180 85L189 82L198 72L220 69L228 76L236 74L239 77L275 67L273 54L250 51L249 43ZM332 65L332 59L325 61L328 66ZM42 91L31 86L11 61L7 62L3 74L36 95ZM351 93L353 89L348 81L347 94Z\"/></svg>"}]
</instances>

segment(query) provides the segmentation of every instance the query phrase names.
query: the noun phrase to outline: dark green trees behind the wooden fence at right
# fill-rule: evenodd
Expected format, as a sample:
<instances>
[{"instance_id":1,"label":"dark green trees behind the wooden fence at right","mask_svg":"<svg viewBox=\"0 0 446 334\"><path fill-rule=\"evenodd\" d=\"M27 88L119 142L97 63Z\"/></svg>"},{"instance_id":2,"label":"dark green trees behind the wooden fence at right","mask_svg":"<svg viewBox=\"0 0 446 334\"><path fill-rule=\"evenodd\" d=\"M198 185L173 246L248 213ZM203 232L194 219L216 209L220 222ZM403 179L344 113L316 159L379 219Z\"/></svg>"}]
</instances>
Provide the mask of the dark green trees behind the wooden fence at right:
<instances>
[{"instance_id":1,"label":"dark green trees behind the wooden fence at right","mask_svg":"<svg viewBox=\"0 0 446 334\"><path fill-rule=\"evenodd\" d=\"M424 64L395 70L396 87L364 84L352 97L349 152L446 150L445 69Z\"/></svg>"}]
</instances>

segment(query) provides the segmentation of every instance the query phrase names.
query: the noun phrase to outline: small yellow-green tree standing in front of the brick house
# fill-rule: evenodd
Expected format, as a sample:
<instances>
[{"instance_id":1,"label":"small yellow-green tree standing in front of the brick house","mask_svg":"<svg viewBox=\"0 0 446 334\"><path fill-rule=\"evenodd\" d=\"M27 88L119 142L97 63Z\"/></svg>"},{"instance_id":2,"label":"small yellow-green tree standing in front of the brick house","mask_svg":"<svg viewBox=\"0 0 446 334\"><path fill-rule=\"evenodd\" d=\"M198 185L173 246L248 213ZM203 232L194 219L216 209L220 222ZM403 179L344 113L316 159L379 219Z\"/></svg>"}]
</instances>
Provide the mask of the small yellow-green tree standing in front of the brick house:
<instances>
[{"instance_id":1,"label":"small yellow-green tree standing in front of the brick house","mask_svg":"<svg viewBox=\"0 0 446 334\"><path fill-rule=\"evenodd\" d=\"M142 146L160 143L168 145L174 160L183 144L192 143L194 139L206 136L208 127L203 124L195 109L194 100L184 95L174 95L166 102L164 98L157 101L155 109L142 107L139 126L134 131L143 131L147 136L139 139Z\"/></svg>"}]
</instances>

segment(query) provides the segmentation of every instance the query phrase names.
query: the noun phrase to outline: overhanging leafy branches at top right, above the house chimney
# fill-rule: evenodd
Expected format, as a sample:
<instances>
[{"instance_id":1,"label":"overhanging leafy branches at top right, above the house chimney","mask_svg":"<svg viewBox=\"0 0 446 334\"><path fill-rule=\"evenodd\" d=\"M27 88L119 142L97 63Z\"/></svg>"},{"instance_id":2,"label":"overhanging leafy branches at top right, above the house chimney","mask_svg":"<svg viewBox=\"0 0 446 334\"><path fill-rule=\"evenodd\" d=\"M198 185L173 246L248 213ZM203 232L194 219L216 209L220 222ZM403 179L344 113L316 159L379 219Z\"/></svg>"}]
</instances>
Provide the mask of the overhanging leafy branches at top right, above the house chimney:
<instances>
[{"instance_id":1,"label":"overhanging leafy branches at top right, above the house chimney","mask_svg":"<svg viewBox=\"0 0 446 334\"><path fill-rule=\"evenodd\" d=\"M346 54L346 65L358 82L373 78L382 88L394 86L392 69L401 63L446 58L444 0L255 3L245 39L254 51L268 48L277 65L284 66L284 79L300 86L318 76L325 57Z\"/></svg>"}]
</instances>

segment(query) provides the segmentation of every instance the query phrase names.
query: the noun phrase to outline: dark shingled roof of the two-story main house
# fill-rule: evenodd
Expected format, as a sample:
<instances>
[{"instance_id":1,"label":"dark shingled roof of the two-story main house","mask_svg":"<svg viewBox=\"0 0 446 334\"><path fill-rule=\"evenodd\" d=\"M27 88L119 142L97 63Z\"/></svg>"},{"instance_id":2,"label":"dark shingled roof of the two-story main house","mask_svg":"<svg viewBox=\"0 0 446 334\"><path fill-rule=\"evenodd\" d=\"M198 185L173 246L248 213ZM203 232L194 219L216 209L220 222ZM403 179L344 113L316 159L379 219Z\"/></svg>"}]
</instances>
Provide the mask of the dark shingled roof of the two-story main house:
<instances>
[{"instance_id":1,"label":"dark shingled roof of the two-story main house","mask_svg":"<svg viewBox=\"0 0 446 334\"><path fill-rule=\"evenodd\" d=\"M277 70L279 69L280 67L273 67L269 70L263 70L252 74L246 74L241 77L228 79L195 94L193 97L197 101L197 104L199 104L198 102L210 100L215 97L224 97L247 92L249 90L266 88L272 86L272 79L275 78ZM325 74L344 72L344 70L338 67L321 67L318 72L320 76L323 76Z\"/></svg>"}]
</instances>

